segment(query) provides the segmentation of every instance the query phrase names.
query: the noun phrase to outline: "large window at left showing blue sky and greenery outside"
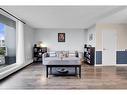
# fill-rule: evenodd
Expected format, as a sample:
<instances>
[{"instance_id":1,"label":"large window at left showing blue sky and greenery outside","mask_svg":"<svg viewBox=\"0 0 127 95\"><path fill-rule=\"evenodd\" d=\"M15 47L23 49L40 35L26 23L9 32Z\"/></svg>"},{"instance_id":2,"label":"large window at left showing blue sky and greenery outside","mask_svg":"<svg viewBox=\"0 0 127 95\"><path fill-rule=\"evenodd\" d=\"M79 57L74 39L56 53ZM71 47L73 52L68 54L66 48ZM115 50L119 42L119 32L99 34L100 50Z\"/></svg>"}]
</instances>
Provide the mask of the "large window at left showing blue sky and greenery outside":
<instances>
[{"instance_id":1,"label":"large window at left showing blue sky and greenery outside","mask_svg":"<svg viewBox=\"0 0 127 95\"><path fill-rule=\"evenodd\" d=\"M16 63L16 22L0 14L0 69Z\"/></svg>"}]
</instances>

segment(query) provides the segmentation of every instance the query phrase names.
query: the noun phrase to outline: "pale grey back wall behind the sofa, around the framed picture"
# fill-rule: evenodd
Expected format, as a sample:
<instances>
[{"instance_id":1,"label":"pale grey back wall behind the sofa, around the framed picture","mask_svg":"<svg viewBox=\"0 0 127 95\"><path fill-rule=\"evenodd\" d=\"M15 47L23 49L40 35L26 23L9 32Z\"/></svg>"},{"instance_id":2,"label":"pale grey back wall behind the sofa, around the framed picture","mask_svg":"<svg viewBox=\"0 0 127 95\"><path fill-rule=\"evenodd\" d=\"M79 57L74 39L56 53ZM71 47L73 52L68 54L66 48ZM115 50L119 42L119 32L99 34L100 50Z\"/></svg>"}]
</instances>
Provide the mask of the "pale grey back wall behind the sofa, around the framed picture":
<instances>
[{"instance_id":1,"label":"pale grey back wall behind the sofa, around the framed picture","mask_svg":"<svg viewBox=\"0 0 127 95\"><path fill-rule=\"evenodd\" d=\"M65 42L58 42L58 33L65 33ZM83 51L86 43L83 29L36 29L34 36L35 43L42 41L49 51Z\"/></svg>"}]
</instances>

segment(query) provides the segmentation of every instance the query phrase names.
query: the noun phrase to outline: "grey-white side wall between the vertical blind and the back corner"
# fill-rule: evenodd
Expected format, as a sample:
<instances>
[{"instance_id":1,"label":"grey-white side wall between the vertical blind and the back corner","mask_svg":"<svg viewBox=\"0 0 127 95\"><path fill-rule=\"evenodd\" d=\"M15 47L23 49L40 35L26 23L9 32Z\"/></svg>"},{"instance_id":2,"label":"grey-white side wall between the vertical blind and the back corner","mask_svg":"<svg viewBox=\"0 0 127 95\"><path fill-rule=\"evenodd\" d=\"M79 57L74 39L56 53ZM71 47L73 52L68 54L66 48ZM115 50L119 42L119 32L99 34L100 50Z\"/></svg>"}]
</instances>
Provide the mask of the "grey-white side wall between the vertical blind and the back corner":
<instances>
[{"instance_id":1,"label":"grey-white side wall between the vertical blind and the back corner","mask_svg":"<svg viewBox=\"0 0 127 95\"><path fill-rule=\"evenodd\" d=\"M34 29L28 25L24 25L24 48L25 48L25 62L32 60L33 57L33 41Z\"/></svg>"}]
</instances>

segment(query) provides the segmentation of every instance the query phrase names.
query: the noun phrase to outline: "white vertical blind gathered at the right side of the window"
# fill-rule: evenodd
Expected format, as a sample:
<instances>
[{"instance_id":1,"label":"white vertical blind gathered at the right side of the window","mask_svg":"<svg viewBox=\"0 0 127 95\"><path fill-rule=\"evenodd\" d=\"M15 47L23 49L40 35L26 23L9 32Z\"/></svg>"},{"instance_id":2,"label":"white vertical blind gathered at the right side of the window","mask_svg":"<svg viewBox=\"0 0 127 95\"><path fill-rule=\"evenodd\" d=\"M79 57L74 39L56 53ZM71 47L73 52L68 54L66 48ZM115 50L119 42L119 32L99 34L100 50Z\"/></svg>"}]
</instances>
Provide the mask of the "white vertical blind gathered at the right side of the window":
<instances>
[{"instance_id":1,"label":"white vertical blind gathered at the right side of the window","mask_svg":"<svg viewBox=\"0 0 127 95\"><path fill-rule=\"evenodd\" d=\"M21 21L16 22L16 63L23 64L25 63L25 52L24 52L24 24Z\"/></svg>"}]
</instances>

